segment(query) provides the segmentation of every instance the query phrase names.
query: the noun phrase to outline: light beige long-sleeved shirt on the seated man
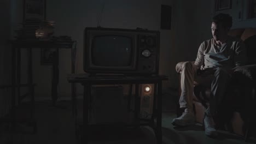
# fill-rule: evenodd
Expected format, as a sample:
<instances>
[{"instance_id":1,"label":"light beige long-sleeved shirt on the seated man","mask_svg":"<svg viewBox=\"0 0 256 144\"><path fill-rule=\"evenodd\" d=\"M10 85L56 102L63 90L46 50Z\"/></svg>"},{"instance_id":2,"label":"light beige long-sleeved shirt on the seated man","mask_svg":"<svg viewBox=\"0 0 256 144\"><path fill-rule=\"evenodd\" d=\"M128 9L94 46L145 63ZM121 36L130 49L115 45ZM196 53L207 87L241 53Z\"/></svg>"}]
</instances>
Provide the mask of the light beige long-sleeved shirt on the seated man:
<instances>
[{"instance_id":1,"label":"light beige long-sleeved shirt on the seated man","mask_svg":"<svg viewBox=\"0 0 256 144\"><path fill-rule=\"evenodd\" d=\"M201 70L219 67L232 69L245 62L245 44L240 39L228 37L222 46L217 46L213 38L203 41L197 52L195 65Z\"/></svg>"}]
</instances>

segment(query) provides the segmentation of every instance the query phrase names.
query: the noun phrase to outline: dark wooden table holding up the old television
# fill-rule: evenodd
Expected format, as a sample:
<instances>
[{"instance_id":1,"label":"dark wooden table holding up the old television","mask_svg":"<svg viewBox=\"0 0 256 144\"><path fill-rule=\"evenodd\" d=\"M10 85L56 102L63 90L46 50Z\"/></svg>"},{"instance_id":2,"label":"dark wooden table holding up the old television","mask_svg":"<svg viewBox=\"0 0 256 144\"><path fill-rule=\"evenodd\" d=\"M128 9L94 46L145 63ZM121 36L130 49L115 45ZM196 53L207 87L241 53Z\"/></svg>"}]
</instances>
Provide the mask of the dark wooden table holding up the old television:
<instances>
[{"instance_id":1,"label":"dark wooden table holding up the old television","mask_svg":"<svg viewBox=\"0 0 256 144\"><path fill-rule=\"evenodd\" d=\"M154 129L156 139L160 144L162 142L162 131L161 131L161 119L162 119L162 81L168 80L166 75L151 75L151 76L110 76L110 75L90 75L90 74L71 74L67 76L67 80L70 83L80 83L84 87L84 95L83 95L83 124L80 125L83 131L82 134L82 143L88 143L89 140L89 128L92 125L89 125L89 106L90 98L91 98L91 88L92 85L115 85L115 84L135 84L135 124L145 125L145 123L141 123L141 118L139 115L139 107L140 107L140 98L138 85L139 84L154 84L154 97L153 97L153 115L146 125L149 125ZM130 88L130 97L131 97L132 88ZM73 93L72 93L73 94ZM75 98L76 95L72 95L72 98ZM76 100L74 100L73 105L76 105ZM76 106L74 106L76 107ZM76 108L75 108L76 109ZM155 119L156 118L156 119ZM156 124L154 124L154 120L156 120ZM75 121L77 121L77 111L75 110ZM77 126L77 125L76 125ZM95 125L94 125L95 126Z\"/></svg>"}]
</instances>

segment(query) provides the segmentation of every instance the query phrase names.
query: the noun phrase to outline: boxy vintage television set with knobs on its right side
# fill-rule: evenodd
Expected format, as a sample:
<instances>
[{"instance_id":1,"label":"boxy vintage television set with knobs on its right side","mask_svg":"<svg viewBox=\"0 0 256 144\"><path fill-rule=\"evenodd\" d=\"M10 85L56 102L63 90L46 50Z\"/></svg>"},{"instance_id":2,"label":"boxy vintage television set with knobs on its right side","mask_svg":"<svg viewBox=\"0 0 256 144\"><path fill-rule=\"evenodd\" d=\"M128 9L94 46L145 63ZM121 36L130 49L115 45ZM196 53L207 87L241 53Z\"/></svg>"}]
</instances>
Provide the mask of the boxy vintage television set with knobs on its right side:
<instances>
[{"instance_id":1,"label":"boxy vintage television set with knobs on its right side","mask_svg":"<svg viewBox=\"0 0 256 144\"><path fill-rule=\"evenodd\" d=\"M84 71L89 74L158 74L159 37L159 31L86 27Z\"/></svg>"}]
</instances>

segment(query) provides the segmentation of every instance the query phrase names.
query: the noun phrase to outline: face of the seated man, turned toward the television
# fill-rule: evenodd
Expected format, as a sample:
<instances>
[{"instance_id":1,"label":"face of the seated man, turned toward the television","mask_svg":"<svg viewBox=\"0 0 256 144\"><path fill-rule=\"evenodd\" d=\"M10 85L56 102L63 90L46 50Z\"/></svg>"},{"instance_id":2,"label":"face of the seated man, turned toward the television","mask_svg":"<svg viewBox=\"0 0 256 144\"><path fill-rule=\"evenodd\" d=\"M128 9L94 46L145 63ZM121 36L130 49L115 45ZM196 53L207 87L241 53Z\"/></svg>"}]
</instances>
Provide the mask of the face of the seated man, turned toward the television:
<instances>
[{"instance_id":1,"label":"face of the seated man, turned toward the television","mask_svg":"<svg viewBox=\"0 0 256 144\"><path fill-rule=\"evenodd\" d=\"M228 28L224 28L221 24L217 25L215 22L212 22L212 37L214 40L224 40L226 35L228 35Z\"/></svg>"}]
</instances>

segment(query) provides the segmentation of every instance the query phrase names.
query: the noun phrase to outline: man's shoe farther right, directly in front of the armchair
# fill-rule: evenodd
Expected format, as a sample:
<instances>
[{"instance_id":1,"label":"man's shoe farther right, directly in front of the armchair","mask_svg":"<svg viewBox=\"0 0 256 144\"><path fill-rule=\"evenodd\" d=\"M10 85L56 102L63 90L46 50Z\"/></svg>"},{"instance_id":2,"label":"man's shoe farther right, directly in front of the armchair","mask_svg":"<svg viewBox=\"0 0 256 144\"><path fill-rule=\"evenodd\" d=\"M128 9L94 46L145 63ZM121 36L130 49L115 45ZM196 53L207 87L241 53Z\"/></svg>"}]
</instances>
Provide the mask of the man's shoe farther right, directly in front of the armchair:
<instances>
[{"instance_id":1,"label":"man's shoe farther right, directly in front of the armchair","mask_svg":"<svg viewBox=\"0 0 256 144\"><path fill-rule=\"evenodd\" d=\"M205 127L205 135L211 137L216 137L218 135L213 118L208 116L206 113L205 118L203 118L203 126Z\"/></svg>"}]
</instances>

